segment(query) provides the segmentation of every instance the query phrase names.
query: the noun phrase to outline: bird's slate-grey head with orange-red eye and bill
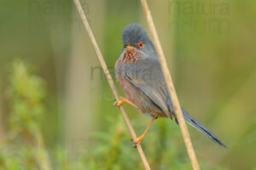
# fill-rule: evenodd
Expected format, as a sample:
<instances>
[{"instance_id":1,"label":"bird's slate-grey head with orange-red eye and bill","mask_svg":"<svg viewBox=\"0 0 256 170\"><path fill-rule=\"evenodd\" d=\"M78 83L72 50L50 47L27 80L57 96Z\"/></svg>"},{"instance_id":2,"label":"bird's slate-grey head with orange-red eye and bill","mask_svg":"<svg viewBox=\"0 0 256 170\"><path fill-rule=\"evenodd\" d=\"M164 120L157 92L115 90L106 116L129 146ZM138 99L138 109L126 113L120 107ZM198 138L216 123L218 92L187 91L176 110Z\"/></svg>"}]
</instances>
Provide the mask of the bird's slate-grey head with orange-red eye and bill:
<instances>
[{"instance_id":1,"label":"bird's slate-grey head with orange-red eye and bill","mask_svg":"<svg viewBox=\"0 0 256 170\"><path fill-rule=\"evenodd\" d=\"M154 46L150 41L147 32L140 24L130 24L125 27L123 34L124 49L135 48L144 54L155 54Z\"/></svg>"}]
</instances>

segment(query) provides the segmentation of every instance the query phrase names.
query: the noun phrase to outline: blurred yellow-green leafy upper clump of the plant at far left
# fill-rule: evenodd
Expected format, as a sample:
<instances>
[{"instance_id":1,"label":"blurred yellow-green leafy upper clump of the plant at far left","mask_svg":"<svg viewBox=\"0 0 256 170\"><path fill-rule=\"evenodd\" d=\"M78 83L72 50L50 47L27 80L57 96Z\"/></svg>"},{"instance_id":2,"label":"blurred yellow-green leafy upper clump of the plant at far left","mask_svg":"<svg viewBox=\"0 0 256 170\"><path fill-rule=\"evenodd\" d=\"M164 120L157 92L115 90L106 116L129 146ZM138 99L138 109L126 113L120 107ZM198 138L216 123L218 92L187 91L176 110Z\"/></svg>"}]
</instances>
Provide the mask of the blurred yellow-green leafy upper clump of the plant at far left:
<instances>
[{"instance_id":1,"label":"blurred yellow-green leafy upper clump of the plant at far left","mask_svg":"<svg viewBox=\"0 0 256 170\"><path fill-rule=\"evenodd\" d=\"M10 82L10 130L14 135L35 136L44 114L44 81L32 75L28 65L17 60L13 64Z\"/></svg>"}]
</instances>

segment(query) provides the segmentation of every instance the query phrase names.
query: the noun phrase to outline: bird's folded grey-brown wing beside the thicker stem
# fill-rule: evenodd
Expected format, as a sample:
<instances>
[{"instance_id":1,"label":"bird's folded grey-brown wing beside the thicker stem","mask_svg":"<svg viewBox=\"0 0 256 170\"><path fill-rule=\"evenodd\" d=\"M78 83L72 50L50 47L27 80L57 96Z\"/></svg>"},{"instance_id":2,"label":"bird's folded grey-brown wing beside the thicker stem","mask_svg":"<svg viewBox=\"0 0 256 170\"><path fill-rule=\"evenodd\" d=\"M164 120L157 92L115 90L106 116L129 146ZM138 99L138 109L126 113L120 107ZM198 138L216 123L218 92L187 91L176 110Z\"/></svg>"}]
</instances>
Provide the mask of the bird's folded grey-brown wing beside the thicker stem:
<instances>
[{"instance_id":1,"label":"bird's folded grey-brown wing beside the thicker stem","mask_svg":"<svg viewBox=\"0 0 256 170\"><path fill-rule=\"evenodd\" d=\"M166 116L171 116L167 105L166 82L158 60L143 59L125 68L125 77L135 87L143 91L155 105L158 105Z\"/></svg>"}]
</instances>

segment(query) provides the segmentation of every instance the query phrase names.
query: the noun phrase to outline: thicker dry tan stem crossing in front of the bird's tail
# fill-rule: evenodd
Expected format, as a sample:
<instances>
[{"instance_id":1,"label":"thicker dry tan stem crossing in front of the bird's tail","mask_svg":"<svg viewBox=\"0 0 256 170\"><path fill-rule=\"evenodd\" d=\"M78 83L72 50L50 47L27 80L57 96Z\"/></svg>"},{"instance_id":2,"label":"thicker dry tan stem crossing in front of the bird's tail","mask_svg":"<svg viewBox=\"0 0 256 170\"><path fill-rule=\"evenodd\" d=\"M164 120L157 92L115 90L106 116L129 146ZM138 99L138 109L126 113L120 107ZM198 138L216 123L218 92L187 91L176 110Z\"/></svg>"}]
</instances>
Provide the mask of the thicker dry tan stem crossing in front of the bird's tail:
<instances>
[{"instance_id":1,"label":"thicker dry tan stem crossing in front of the bird's tail","mask_svg":"<svg viewBox=\"0 0 256 170\"><path fill-rule=\"evenodd\" d=\"M192 145L192 142L191 142L191 139L190 139L190 136L189 136L189 131L188 131L188 128L187 128L186 123L185 123L184 118L183 118L183 113L181 111L181 108L180 108L180 105L179 105L179 102L178 102L178 99L177 99L177 94L176 94L176 91L175 91L175 88L174 88L174 85L173 85L173 82L172 82L172 77L171 77L170 71L168 69L168 65L167 65L167 62L166 62L166 57L165 57L163 49L160 45L160 40L159 40L159 37L157 35L157 31L155 29L155 26L154 26L154 21L152 19L152 15L150 14L150 10L148 8L147 0L141 0L141 3L143 5L143 9L144 9L147 21L148 21L149 30L150 30L150 32L153 36L154 46L156 48L156 52L157 52L159 60L160 60L160 65L161 65L162 71L164 73L167 88L168 88L169 93L171 95L172 104L173 104L175 113L177 115L177 121L179 123L179 126L180 126L182 134L183 134L183 139L184 139L184 143L187 147L187 151L188 151L188 154L189 154L189 159L191 161L193 169L199 170L200 167L199 167L198 162L196 160L195 150L193 149L193 145Z\"/></svg>"}]
</instances>

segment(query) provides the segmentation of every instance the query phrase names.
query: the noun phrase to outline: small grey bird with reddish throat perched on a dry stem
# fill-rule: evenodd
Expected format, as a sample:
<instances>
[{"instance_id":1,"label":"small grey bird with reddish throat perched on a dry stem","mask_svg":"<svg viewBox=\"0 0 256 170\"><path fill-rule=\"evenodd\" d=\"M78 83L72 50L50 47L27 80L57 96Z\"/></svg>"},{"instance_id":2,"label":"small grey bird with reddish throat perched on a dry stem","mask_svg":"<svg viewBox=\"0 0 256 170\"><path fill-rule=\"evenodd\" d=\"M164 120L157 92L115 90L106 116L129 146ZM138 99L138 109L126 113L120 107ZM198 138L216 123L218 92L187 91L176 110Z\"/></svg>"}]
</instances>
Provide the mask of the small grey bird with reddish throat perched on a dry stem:
<instances>
[{"instance_id":1,"label":"small grey bird with reddish throat perched on a dry stem","mask_svg":"<svg viewBox=\"0 0 256 170\"><path fill-rule=\"evenodd\" d=\"M114 72L126 97L121 97L113 105L120 106L126 102L152 119L144 133L134 141L136 147L136 144L143 140L155 119L170 117L177 122L177 116L154 45L143 26L139 24L126 26L122 33L122 39L124 48L116 61ZM182 106L181 109L186 122L207 135L212 141L226 148L226 145L207 127L189 116Z\"/></svg>"}]
</instances>

